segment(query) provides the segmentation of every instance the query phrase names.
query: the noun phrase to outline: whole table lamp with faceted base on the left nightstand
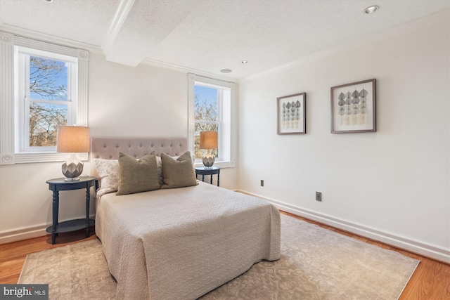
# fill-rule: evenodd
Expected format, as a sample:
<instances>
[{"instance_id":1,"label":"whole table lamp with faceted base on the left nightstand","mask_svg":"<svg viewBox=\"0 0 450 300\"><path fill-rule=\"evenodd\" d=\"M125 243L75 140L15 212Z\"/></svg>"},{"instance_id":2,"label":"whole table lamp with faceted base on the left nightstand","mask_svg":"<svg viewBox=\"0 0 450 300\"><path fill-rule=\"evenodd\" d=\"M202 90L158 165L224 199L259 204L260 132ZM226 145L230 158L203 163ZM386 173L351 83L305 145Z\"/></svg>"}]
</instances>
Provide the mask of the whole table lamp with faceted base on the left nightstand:
<instances>
[{"instance_id":1,"label":"whole table lamp with faceted base on the left nightstand","mask_svg":"<svg viewBox=\"0 0 450 300\"><path fill-rule=\"evenodd\" d=\"M75 155L77 152L89 152L89 127L58 126L56 152L70 152L72 156L63 164L66 181L77 181L83 172L83 162Z\"/></svg>"}]
</instances>

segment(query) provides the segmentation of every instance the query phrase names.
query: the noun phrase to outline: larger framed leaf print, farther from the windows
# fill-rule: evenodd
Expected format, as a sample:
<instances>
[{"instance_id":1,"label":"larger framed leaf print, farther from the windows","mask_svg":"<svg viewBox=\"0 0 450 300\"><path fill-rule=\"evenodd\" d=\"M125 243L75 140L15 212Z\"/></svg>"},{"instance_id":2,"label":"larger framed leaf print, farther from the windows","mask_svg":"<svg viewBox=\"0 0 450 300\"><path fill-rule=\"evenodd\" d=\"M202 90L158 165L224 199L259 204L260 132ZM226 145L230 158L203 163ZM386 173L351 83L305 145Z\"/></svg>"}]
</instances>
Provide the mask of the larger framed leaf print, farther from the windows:
<instances>
[{"instance_id":1,"label":"larger framed leaf print, farther from the windows","mask_svg":"<svg viewBox=\"0 0 450 300\"><path fill-rule=\"evenodd\" d=\"M331 133L376 131L376 79L331 88Z\"/></svg>"}]
</instances>

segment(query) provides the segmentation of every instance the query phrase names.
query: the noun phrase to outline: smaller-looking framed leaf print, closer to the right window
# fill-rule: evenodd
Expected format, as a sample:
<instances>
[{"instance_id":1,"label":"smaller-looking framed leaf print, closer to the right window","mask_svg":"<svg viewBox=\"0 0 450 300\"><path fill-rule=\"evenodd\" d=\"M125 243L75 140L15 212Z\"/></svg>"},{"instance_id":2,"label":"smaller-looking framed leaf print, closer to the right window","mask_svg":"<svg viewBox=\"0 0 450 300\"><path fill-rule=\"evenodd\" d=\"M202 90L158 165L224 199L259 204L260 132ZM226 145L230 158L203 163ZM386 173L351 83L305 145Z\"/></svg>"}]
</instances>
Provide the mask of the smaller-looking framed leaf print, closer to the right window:
<instances>
[{"instance_id":1,"label":"smaller-looking framed leaf print, closer to the right window","mask_svg":"<svg viewBox=\"0 0 450 300\"><path fill-rule=\"evenodd\" d=\"M276 98L276 134L306 134L306 93Z\"/></svg>"}]
</instances>

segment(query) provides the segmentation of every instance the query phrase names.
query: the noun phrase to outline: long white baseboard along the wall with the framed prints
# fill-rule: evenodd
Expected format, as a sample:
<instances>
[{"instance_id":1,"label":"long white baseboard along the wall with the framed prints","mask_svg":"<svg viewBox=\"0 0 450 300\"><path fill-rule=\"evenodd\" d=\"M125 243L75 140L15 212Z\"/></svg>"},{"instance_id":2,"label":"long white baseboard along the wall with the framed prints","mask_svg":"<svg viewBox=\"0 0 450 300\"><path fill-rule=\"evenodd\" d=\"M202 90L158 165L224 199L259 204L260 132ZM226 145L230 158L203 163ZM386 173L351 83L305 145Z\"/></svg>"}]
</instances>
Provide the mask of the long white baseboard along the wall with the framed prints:
<instances>
[{"instance_id":1,"label":"long white baseboard along the wall with the framed prints","mask_svg":"<svg viewBox=\"0 0 450 300\"><path fill-rule=\"evenodd\" d=\"M291 214L295 214L297 216L302 216L306 219L317 221L317 222L326 224L328 226L333 226L335 228L346 230L346 231L349 231L350 233L354 233L356 235L368 237L371 240L377 240L377 241L383 242L385 244L390 244L391 246L405 249L409 252L420 254L422 256L426 256L431 259L436 259L437 261L442 261L444 263L450 263L450 249L444 249L442 247L438 247L438 246L428 244L425 242L420 242L418 240L411 240L408 237L401 237L399 235L394 235L392 233L386 233L381 230L377 230L375 228L368 228L367 226L364 226L361 224L352 223L349 221L338 219L333 216L321 214L316 211L310 211L308 209L302 209L300 207L295 207L294 205L280 202L280 201L270 199L267 197L263 197L261 195L248 193L244 190L238 190L238 192L247 194L247 195L251 195L254 197L259 197L261 199L266 200L267 202L271 202L278 209L281 209L282 211L286 211Z\"/></svg>"}]
</instances>

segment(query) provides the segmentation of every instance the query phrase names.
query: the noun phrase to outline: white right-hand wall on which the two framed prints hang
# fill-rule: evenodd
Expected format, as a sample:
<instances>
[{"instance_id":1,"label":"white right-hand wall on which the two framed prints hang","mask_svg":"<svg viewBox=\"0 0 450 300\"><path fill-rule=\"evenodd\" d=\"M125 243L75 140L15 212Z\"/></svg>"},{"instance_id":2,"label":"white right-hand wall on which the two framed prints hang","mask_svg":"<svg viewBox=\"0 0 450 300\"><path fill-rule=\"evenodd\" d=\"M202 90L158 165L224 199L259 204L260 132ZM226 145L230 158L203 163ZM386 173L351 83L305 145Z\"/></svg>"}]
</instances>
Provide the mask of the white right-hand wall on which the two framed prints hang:
<instances>
[{"instance_id":1,"label":"white right-hand wall on which the two framed prints hang","mask_svg":"<svg viewBox=\"0 0 450 300\"><path fill-rule=\"evenodd\" d=\"M239 189L450 261L449 37L446 11L241 82ZM377 132L330 133L330 87L373 78ZM277 135L276 98L302 92L307 134Z\"/></svg>"}]
</instances>

